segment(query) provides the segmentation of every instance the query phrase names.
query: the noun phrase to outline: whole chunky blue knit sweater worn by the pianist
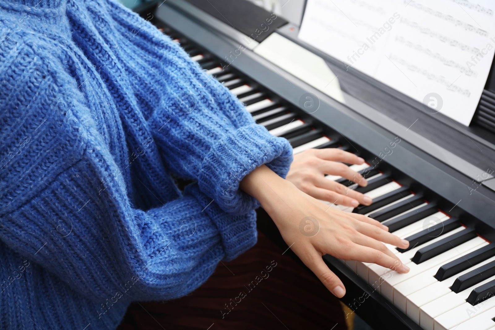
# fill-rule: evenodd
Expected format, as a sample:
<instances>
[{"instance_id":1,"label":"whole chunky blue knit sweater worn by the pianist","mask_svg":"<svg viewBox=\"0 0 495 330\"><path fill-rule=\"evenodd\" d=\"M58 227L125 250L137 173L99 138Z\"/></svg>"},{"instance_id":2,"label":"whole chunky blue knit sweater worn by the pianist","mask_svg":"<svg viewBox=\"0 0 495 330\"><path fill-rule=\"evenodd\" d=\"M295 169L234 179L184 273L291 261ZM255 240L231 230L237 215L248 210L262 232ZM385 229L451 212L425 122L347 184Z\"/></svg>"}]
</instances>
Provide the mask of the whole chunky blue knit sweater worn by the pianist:
<instances>
[{"instance_id":1,"label":"whole chunky blue knit sweater worn by the pianist","mask_svg":"<svg viewBox=\"0 0 495 330\"><path fill-rule=\"evenodd\" d=\"M2 0L0 43L0 329L114 329L255 243L239 182L292 149L149 22Z\"/></svg>"}]
</instances>

